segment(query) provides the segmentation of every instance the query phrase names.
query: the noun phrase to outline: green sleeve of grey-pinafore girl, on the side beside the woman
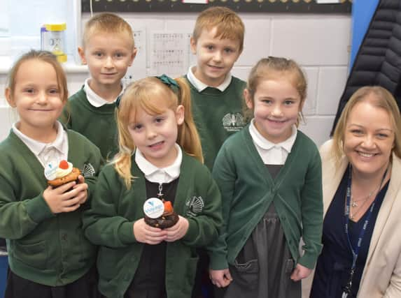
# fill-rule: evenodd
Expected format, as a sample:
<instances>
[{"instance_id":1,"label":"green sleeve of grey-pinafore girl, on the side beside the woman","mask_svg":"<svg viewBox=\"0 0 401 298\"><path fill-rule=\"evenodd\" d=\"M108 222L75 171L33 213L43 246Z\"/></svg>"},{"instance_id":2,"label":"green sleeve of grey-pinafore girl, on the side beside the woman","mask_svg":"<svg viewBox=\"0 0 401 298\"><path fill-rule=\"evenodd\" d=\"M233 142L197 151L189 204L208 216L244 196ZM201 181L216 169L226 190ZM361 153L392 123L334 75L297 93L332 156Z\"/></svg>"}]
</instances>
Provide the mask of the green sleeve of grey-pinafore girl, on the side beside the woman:
<instances>
[{"instance_id":1,"label":"green sleeve of grey-pinafore girl, on the side beside the woman","mask_svg":"<svg viewBox=\"0 0 401 298\"><path fill-rule=\"evenodd\" d=\"M316 149L307 170L301 191L302 239L304 254L298 260L300 265L313 269L321 253L323 230L323 191L321 157Z\"/></svg>"}]
</instances>

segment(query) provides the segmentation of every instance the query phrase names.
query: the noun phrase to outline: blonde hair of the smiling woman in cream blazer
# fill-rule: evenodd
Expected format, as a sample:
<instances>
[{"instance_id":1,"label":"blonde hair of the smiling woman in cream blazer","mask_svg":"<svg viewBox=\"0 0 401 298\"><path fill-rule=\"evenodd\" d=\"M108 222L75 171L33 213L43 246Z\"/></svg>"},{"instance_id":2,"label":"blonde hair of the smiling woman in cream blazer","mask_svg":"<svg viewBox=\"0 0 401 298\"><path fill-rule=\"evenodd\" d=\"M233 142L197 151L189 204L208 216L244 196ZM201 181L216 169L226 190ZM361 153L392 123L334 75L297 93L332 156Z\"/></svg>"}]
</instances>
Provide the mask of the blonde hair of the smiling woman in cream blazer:
<instances>
[{"instance_id":1,"label":"blonde hair of the smiling woman in cream blazer","mask_svg":"<svg viewBox=\"0 0 401 298\"><path fill-rule=\"evenodd\" d=\"M401 116L398 105L395 102L393 95L383 87L366 86L358 89L351 98L349 98L348 103L346 103L344 110L339 117L333 135L333 155L335 156L336 161L339 162L342 156L344 156L344 137L349 114L357 103L365 101L369 102L374 107L384 109L388 113L394 131L393 152L396 156L401 158Z\"/></svg>"}]
</instances>

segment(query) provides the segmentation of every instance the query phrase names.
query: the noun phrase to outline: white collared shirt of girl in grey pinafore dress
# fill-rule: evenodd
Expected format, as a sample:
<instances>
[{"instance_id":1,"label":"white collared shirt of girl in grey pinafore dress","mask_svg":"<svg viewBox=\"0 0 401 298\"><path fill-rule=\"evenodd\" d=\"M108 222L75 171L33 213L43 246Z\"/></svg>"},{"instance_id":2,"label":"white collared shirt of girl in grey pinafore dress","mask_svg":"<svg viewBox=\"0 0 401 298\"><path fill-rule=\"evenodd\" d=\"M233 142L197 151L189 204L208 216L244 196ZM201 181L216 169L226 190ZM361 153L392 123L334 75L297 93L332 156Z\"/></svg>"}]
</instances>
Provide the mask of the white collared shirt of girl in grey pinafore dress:
<instances>
[{"instance_id":1,"label":"white collared shirt of girl in grey pinafore dress","mask_svg":"<svg viewBox=\"0 0 401 298\"><path fill-rule=\"evenodd\" d=\"M259 133L258 129L255 127L255 119L251 121L249 133L265 165L283 165L286 163L287 156L290 154L295 139L297 138L297 128L294 125L293 131L287 140L274 144L266 140L266 138Z\"/></svg>"}]
</instances>

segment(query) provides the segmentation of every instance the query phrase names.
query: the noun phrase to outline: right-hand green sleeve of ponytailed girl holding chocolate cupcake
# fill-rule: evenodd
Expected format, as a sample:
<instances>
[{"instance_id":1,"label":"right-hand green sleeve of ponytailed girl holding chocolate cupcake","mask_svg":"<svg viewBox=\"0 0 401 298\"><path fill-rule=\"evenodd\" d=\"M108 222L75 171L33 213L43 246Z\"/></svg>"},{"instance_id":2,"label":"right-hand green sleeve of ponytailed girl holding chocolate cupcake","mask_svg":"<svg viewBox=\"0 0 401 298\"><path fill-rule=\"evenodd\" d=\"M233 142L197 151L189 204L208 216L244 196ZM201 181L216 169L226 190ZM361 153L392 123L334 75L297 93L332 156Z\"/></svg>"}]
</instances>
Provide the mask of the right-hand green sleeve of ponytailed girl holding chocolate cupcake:
<instances>
[{"instance_id":1,"label":"right-hand green sleeve of ponytailed girl holding chocolate cupcake","mask_svg":"<svg viewBox=\"0 0 401 298\"><path fill-rule=\"evenodd\" d=\"M206 246L218 237L218 227L221 225L221 197L216 182L211 177L209 170L203 167L205 178L199 175L196 181L205 181L207 185L204 208L199 216L188 217L188 232L183 237L183 243L187 246ZM198 180L199 179L199 180Z\"/></svg>"}]
</instances>

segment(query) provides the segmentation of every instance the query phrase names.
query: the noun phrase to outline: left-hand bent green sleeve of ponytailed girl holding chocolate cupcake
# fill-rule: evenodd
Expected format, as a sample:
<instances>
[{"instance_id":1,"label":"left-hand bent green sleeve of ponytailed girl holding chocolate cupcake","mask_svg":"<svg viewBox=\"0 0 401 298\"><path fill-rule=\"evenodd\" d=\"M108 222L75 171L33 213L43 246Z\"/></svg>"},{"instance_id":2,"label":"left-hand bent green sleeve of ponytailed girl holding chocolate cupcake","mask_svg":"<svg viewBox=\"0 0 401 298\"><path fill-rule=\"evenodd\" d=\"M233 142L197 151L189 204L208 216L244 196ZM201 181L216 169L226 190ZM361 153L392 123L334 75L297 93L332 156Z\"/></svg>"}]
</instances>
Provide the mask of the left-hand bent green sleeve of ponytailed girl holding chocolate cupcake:
<instances>
[{"instance_id":1,"label":"left-hand bent green sleeve of ponytailed girl holding chocolate cupcake","mask_svg":"<svg viewBox=\"0 0 401 298\"><path fill-rule=\"evenodd\" d=\"M113 171L110 165L99 174L90 209L83 215L83 228L93 244L120 248L136 242L136 239L134 222L118 216L115 201L120 198L122 185Z\"/></svg>"}]
</instances>

